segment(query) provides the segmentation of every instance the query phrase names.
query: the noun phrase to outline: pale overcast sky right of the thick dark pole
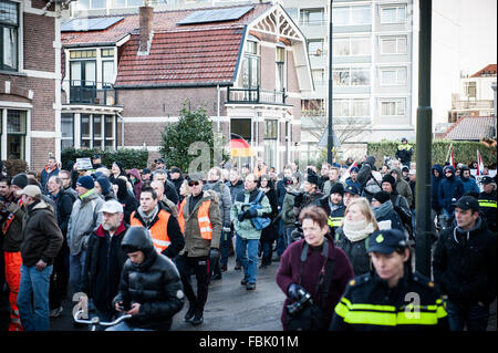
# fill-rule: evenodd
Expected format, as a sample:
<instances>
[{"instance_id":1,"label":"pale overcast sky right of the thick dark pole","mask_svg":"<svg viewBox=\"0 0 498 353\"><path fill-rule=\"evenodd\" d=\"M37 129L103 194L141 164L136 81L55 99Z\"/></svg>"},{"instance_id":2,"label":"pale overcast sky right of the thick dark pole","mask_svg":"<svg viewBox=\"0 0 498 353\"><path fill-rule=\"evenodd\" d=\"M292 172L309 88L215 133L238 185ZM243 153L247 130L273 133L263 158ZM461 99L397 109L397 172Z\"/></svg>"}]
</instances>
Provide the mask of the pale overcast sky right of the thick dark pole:
<instances>
[{"instance_id":1,"label":"pale overcast sky right of the thick dark pole","mask_svg":"<svg viewBox=\"0 0 498 353\"><path fill-rule=\"evenodd\" d=\"M433 0L432 106L444 123L459 72L497 63L497 0ZM415 59L416 60L416 59Z\"/></svg>"}]
</instances>

